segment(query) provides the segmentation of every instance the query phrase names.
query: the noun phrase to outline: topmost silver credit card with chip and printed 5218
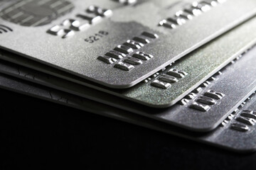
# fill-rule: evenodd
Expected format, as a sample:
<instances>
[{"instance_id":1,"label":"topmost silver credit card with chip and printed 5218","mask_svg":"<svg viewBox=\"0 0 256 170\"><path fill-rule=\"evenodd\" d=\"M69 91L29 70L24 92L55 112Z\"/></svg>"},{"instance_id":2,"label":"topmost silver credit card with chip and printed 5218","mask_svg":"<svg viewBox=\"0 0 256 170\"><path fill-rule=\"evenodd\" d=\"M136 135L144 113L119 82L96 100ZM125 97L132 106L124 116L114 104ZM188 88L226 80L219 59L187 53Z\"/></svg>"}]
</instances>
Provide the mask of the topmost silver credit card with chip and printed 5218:
<instances>
[{"instance_id":1,"label":"topmost silver credit card with chip and printed 5218","mask_svg":"<svg viewBox=\"0 0 256 170\"><path fill-rule=\"evenodd\" d=\"M11 2L1 7L1 48L117 89L256 13L254 0Z\"/></svg>"}]
</instances>

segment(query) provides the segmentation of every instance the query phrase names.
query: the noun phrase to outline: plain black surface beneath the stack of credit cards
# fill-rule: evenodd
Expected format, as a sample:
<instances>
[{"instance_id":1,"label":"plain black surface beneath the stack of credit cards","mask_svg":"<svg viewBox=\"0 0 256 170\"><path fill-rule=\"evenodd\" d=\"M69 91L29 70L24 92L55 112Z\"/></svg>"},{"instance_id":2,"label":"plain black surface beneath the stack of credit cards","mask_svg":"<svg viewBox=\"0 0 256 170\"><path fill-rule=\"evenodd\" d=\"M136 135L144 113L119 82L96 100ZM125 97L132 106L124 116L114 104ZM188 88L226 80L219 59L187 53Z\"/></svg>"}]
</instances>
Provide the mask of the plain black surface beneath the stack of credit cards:
<instances>
[{"instance_id":1,"label":"plain black surface beneath the stack of credit cards","mask_svg":"<svg viewBox=\"0 0 256 170\"><path fill-rule=\"evenodd\" d=\"M237 154L14 92L1 94L1 169L255 169Z\"/></svg>"}]
</instances>

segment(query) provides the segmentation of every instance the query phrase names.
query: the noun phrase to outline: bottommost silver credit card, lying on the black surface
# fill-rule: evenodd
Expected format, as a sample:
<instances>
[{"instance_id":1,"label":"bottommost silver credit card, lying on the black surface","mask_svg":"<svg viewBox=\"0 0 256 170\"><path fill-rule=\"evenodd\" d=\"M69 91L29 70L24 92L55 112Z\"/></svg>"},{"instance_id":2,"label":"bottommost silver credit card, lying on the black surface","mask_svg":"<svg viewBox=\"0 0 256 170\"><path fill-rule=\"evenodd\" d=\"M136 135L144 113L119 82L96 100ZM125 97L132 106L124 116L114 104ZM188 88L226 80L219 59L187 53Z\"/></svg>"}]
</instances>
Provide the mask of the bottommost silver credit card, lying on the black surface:
<instances>
[{"instance_id":1,"label":"bottommost silver credit card, lying on the black surface","mask_svg":"<svg viewBox=\"0 0 256 170\"><path fill-rule=\"evenodd\" d=\"M30 84L21 79L8 77L0 74L0 87L10 91L15 91L28 96L41 98L65 106L78 108L82 111L88 111L99 115L104 115L127 123L133 123L145 128L166 132L171 135L177 135L189 140L203 142L223 149L229 149L233 152L255 152L256 149L256 96L255 93L247 98L242 105L235 109L233 113L211 132L198 133L188 132L157 120L145 118L143 116L122 111L120 109L90 101L85 98L66 94L63 91Z\"/></svg>"}]
</instances>

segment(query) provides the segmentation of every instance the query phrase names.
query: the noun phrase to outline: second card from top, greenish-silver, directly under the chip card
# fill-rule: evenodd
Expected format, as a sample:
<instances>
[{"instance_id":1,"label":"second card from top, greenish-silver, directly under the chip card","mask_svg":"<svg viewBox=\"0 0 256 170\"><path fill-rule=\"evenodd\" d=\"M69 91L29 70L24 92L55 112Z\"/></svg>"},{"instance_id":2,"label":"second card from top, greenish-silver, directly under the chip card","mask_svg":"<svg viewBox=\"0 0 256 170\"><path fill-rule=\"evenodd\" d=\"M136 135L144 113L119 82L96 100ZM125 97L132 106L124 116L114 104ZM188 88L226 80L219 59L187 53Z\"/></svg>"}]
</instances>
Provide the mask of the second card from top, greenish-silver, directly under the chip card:
<instances>
[{"instance_id":1,"label":"second card from top, greenish-silver, directly under the chip card","mask_svg":"<svg viewBox=\"0 0 256 170\"><path fill-rule=\"evenodd\" d=\"M166 108L174 105L228 62L252 47L256 43L256 32L253 30L256 30L256 18L250 19L241 26L203 45L142 83L122 90L105 88L105 86L85 81L80 77L65 74L58 69L53 69L53 67L47 67L32 60L25 60L23 57L4 50L0 50L0 58L146 106Z\"/></svg>"}]
</instances>

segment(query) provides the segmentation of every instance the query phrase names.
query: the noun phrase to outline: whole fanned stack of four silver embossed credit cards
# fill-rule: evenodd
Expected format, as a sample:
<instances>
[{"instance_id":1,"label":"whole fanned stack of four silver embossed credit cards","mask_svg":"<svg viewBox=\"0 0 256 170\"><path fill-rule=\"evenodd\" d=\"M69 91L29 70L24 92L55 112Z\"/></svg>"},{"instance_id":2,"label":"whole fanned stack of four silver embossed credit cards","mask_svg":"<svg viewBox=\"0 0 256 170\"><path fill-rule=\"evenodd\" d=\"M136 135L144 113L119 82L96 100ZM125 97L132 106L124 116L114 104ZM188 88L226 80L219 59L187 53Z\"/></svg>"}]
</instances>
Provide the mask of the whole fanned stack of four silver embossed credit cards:
<instances>
[{"instance_id":1,"label":"whole fanned stack of four silver embossed credit cards","mask_svg":"<svg viewBox=\"0 0 256 170\"><path fill-rule=\"evenodd\" d=\"M2 0L0 87L256 149L255 0Z\"/></svg>"}]
</instances>

